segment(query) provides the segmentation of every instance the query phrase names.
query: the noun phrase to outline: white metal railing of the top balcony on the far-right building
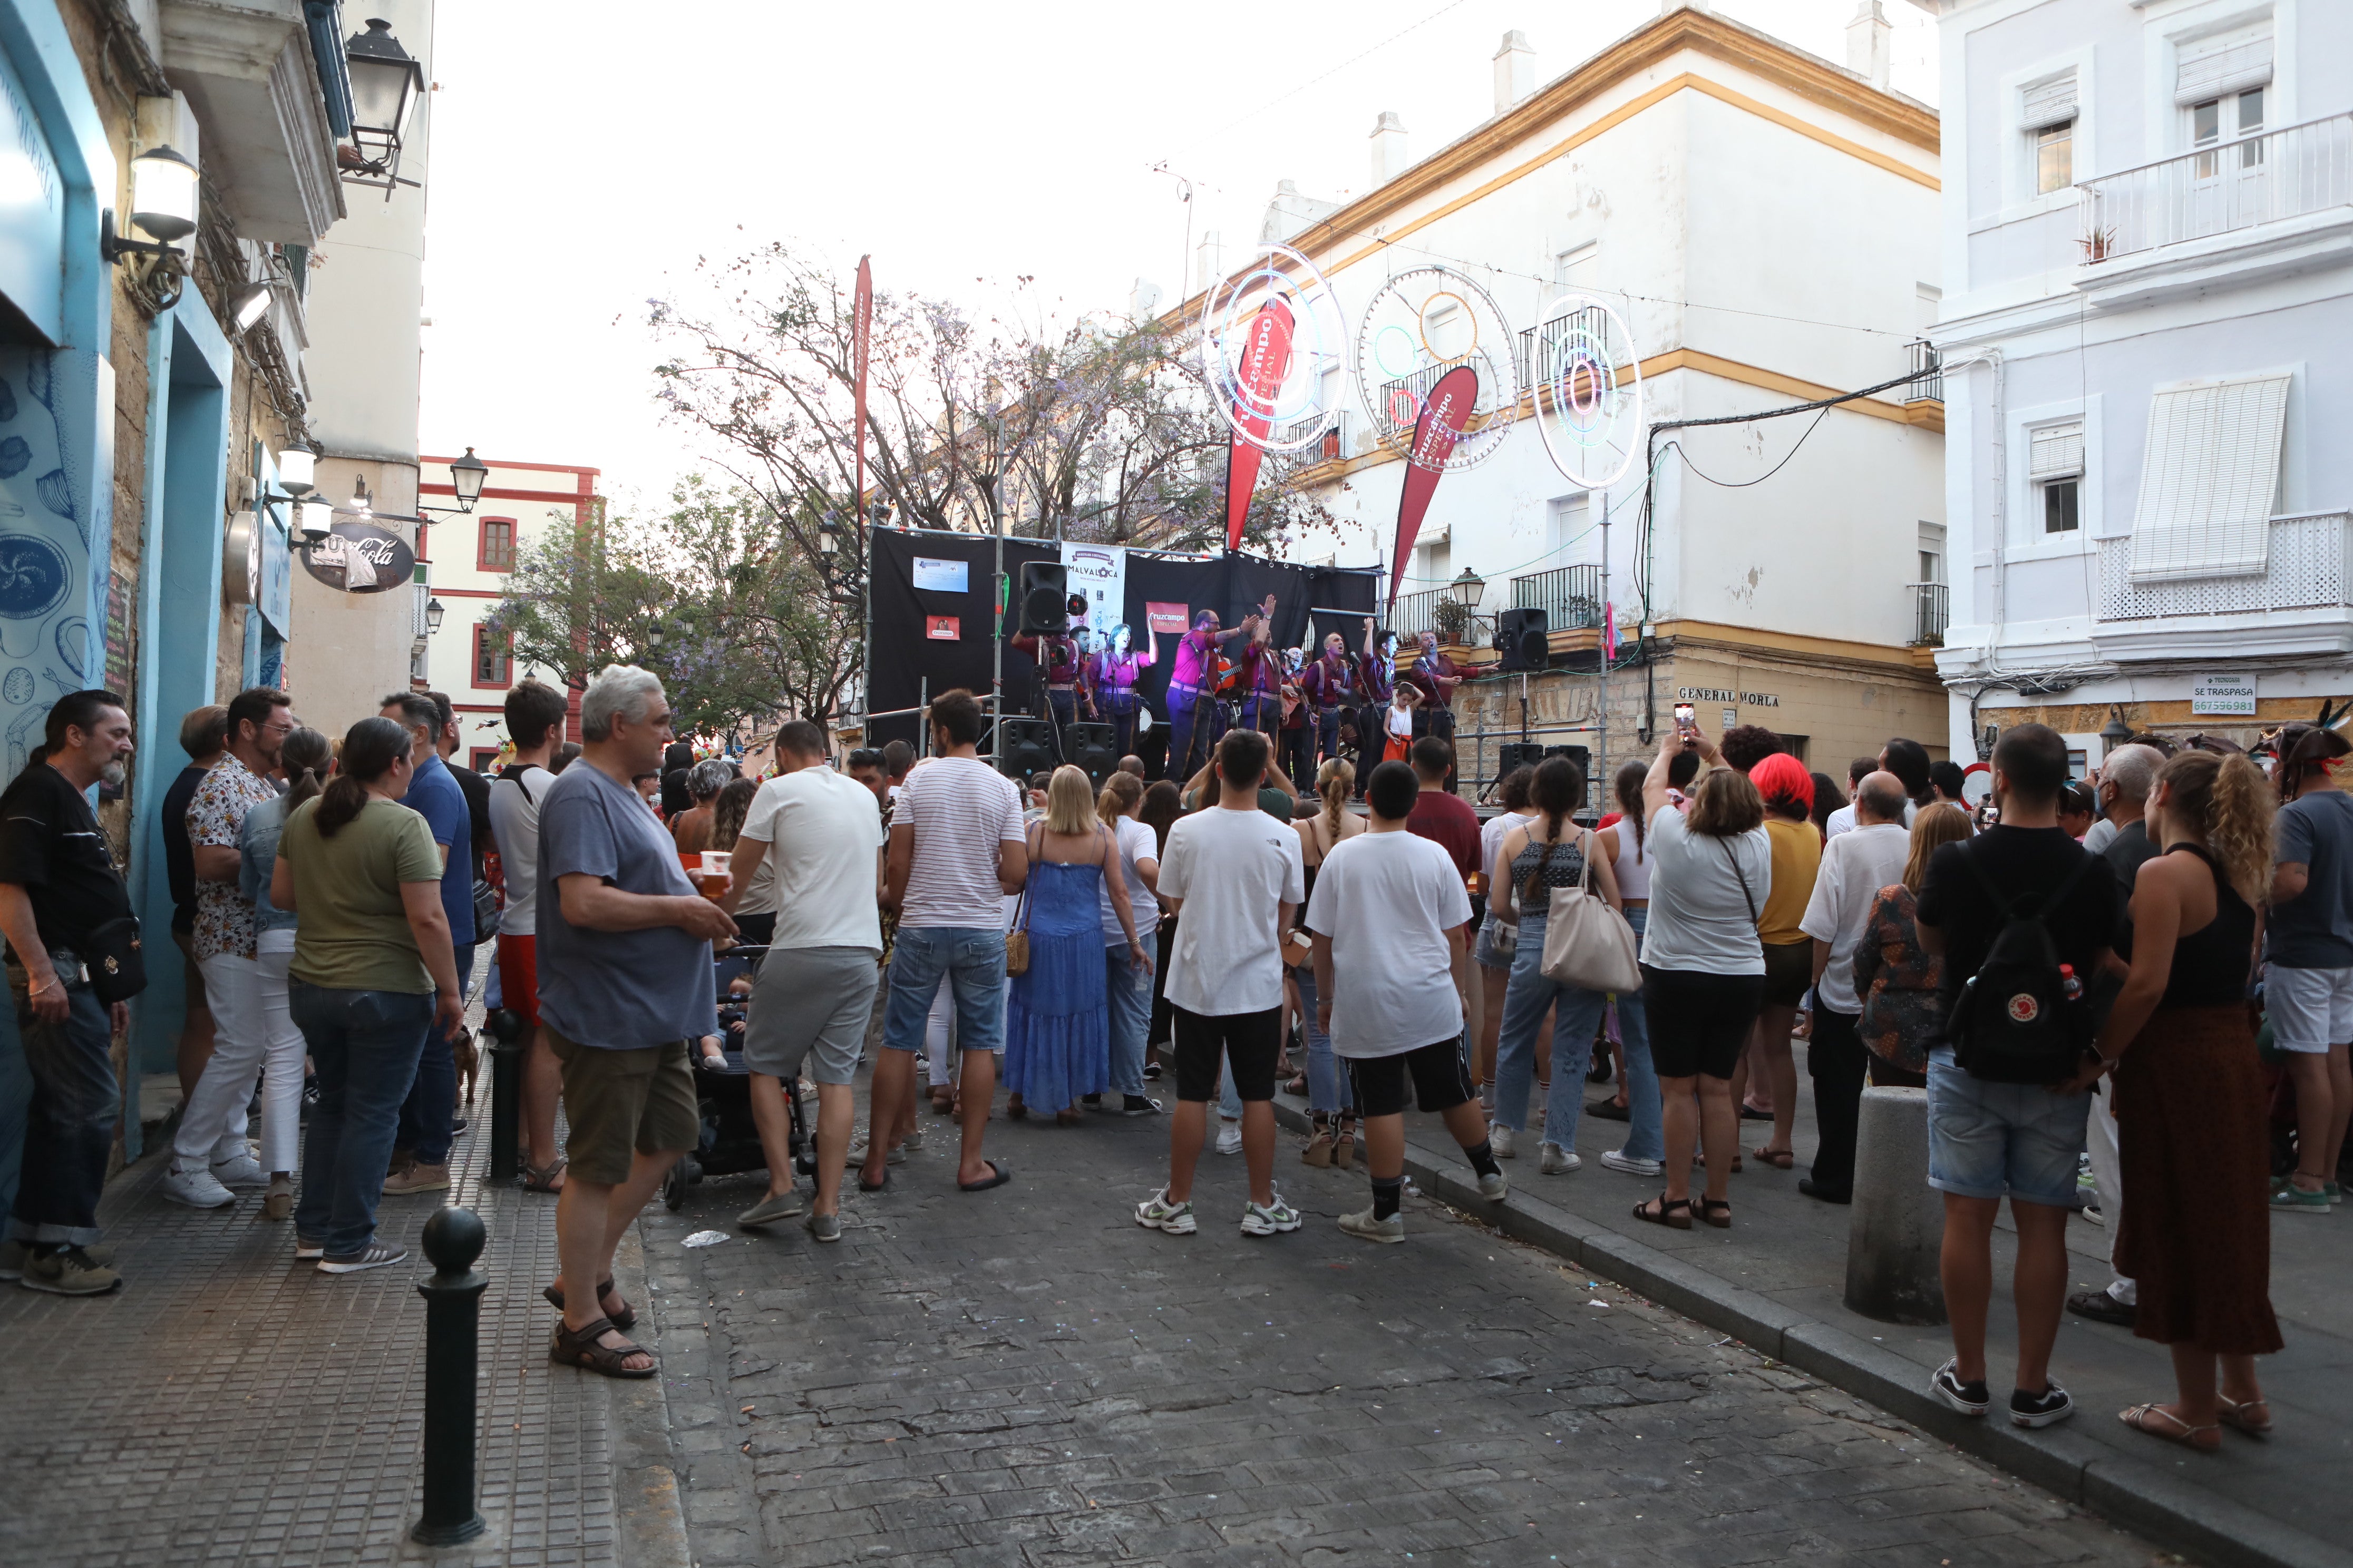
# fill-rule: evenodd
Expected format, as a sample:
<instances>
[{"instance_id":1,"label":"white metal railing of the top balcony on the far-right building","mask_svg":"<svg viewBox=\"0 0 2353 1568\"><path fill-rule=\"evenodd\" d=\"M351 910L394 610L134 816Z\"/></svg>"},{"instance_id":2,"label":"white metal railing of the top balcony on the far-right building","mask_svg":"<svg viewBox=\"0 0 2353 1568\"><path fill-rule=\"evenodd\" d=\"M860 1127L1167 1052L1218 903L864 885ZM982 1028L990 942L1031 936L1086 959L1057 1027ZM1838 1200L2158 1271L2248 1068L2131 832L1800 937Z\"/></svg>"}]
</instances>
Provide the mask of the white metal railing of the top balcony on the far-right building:
<instances>
[{"instance_id":1,"label":"white metal railing of the top balcony on the far-right building","mask_svg":"<svg viewBox=\"0 0 2353 1568\"><path fill-rule=\"evenodd\" d=\"M2221 141L2082 186L2082 261L2353 205L2353 113Z\"/></svg>"}]
</instances>

